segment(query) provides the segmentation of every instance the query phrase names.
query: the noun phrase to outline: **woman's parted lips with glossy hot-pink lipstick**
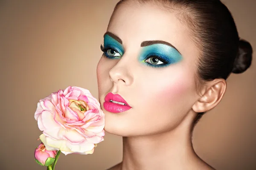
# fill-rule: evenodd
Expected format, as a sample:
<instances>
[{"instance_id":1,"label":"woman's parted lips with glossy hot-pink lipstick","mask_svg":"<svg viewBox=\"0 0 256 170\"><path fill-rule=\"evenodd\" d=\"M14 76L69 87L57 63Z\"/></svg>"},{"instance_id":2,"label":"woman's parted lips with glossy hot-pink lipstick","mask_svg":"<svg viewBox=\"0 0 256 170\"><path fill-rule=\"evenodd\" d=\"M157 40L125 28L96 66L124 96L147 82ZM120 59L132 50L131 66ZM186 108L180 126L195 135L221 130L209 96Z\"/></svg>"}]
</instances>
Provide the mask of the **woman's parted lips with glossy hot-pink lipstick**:
<instances>
[{"instance_id":1,"label":"woman's parted lips with glossy hot-pink lipstick","mask_svg":"<svg viewBox=\"0 0 256 170\"><path fill-rule=\"evenodd\" d=\"M120 113L123 111L127 111L131 108L130 105L122 98L119 94L108 93L105 96L105 102L103 103L103 107L106 111L112 113Z\"/></svg>"}]
</instances>

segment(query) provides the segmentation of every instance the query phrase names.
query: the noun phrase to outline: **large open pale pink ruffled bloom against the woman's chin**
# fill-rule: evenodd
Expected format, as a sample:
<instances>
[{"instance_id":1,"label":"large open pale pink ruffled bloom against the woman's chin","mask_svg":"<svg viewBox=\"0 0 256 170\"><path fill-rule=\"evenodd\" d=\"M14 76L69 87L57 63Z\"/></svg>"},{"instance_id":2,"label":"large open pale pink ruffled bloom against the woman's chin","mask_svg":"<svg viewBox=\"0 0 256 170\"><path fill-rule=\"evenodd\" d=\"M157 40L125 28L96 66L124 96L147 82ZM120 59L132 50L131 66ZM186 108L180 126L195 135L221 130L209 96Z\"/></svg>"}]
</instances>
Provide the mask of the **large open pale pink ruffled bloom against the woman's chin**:
<instances>
[{"instance_id":1,"label":"large open pale pink ruffled bloom against the woman's chin","mask_svg":"<svg viewBox=\"0 0 256 170\"><path fill-rule=\"evenodd\" d=\"M69 86L38 102L35 111L47 150L91 154L105 135L105 115L90 91Z\"/></svg>"}]
</instances>

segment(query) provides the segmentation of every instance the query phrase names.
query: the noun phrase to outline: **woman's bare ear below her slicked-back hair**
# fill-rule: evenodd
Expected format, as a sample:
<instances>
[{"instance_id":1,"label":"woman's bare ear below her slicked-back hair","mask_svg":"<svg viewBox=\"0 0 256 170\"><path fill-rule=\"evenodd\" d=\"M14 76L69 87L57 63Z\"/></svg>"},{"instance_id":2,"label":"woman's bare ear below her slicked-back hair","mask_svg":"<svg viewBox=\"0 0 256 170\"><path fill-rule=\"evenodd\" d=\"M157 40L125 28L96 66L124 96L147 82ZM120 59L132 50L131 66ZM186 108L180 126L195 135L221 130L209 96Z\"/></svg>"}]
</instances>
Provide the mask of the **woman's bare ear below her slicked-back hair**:
<instances>
[{"instance_id":1,"label":"woman's bare ear below her slicked-back hair","mask_svg":"<svg viewBox=\"0 0 256 170\"><path fill-rule=\"evenodd\" d=\"M192 106L193 111L201 113L214 108L221 101L226 88L227 82L224 79L215 79L212 82L207 82L204 93L201 93L203 96L200 96L198 101Z\"/></svg>"}]
</instances>

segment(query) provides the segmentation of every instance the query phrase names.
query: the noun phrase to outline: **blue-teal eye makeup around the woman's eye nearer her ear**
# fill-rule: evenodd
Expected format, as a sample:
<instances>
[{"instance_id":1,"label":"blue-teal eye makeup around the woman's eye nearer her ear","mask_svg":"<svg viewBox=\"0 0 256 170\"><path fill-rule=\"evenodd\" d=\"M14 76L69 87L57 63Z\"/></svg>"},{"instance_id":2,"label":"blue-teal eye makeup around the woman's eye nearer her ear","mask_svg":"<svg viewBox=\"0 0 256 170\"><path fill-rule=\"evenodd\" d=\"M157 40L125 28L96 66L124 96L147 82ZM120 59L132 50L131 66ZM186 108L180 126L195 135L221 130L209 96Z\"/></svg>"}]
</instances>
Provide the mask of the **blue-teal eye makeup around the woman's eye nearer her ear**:
<instances>
[{"instance_id":1,"label":"blue-teal eye makeup around the woman's eye nearer her ear","mask_svg":"<svg viewBox=\"0 0 256 170\"><path fill-rule=\"evenodd\" d=\"M161 64L152 64L146 62L147 59L155 58L155 61L161 61ZM153 44L142 48L139 56L139 62L151 67L165 67L170 64L179 62L182 55L173 47L166 44Z\"/></svg>"}]
</instances>

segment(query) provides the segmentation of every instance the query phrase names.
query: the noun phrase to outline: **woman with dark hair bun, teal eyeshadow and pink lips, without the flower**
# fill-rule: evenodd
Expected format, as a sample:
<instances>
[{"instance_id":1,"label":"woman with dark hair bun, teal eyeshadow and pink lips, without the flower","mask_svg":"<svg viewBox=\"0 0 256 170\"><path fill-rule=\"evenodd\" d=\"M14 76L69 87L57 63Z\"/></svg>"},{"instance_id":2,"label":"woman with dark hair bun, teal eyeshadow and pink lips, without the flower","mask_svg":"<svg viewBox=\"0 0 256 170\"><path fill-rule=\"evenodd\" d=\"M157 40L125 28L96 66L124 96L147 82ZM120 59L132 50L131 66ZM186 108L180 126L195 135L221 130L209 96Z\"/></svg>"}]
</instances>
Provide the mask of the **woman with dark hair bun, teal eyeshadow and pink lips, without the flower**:
<instances>
[{"instance_id":1,"label":"woman with dark hair bun, teal eyeshadow and pink lips, without the flower","mask_svg":"<svg viewBox=\"0 0 256 170\"><path fill-rule=\"evenodd\" d=\"M192 130L221 101L230 73L251 63L219 0L121 0L97 66L105 130L123 136L110 170L211 170Z\"/></svg>"}]
</instances>

